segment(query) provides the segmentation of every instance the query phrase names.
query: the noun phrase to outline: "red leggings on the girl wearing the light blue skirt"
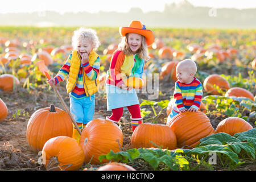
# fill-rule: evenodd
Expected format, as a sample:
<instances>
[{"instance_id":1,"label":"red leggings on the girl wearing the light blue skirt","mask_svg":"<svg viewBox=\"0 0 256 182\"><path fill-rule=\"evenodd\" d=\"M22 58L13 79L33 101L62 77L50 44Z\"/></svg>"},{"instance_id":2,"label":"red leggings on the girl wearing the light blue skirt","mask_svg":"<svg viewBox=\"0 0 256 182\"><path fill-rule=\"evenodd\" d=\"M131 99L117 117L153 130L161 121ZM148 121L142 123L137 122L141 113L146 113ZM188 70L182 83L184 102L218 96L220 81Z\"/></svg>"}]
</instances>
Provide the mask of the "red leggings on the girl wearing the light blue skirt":
<instances>
[{"instance_id":1,"label":"red leggings on the girl wearing the light blue skirt","mask_svg":"<svg viewBox=\"0 0 256 182\"><path fill-rule=\"evenodd\" d=\"M131 118L141 118L141 109L139 108L139 105L132 105L132 106L127 106ZM112 115L109 117L109 119L112 119L113 121L119 121L119 119L123 115L123 107L119 107L116 109L112 109Z\"/></svg>"}]
</instances>

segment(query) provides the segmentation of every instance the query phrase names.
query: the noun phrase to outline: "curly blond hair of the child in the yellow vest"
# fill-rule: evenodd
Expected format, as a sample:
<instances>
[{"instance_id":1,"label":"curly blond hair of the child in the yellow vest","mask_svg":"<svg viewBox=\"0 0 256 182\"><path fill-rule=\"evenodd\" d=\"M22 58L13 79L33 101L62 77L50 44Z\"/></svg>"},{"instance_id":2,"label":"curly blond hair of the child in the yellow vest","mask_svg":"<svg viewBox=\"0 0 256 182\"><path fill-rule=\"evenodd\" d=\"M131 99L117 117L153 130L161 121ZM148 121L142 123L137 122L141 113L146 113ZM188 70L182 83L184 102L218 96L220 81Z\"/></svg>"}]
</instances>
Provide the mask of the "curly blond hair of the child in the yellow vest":
<instances>
[{"instance_id":1,"label":"curly blond hair of the child in the yellow vest","mask_svg":"<svg viewBox=\"0 0 256 182\"><path fill-rule=\"evenodd\" d=\"M74 31L74 34L72 36L72 47L74 50L77 49L77 45L80 40L89 40L92 43L92 48L94 50L97 50L97 48L100 46L97 32L92 28L81 27Z\"/></svg>"}]
</instances>

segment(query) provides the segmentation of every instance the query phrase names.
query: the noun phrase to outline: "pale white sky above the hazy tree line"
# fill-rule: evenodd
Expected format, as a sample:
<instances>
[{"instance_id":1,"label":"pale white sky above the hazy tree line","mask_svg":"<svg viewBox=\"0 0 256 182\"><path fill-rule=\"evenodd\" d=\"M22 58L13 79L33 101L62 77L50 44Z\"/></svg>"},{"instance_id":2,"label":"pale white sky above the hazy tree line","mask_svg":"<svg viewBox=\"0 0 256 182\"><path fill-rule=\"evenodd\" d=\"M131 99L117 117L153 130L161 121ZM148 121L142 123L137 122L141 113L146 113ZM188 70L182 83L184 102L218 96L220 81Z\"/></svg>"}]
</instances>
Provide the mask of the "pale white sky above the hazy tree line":
<instances>
[{"instance_id":1,"label":"pale white sky above the hazy tree line","mask_svg":"<svg viewBox=\"0 0 256 182\"><path fill-rule=\"evenodd\" d=\"M59 13L87 11L116 11L126 13L131 7L139 7L144 13L148 11L163 11L164 5L183 0L5 0L0 6L0 13L31 13L34 11L57 11ZM212 8L255 8L255 0L188 0L194 6Z\"/></svg>"}]
</instances>

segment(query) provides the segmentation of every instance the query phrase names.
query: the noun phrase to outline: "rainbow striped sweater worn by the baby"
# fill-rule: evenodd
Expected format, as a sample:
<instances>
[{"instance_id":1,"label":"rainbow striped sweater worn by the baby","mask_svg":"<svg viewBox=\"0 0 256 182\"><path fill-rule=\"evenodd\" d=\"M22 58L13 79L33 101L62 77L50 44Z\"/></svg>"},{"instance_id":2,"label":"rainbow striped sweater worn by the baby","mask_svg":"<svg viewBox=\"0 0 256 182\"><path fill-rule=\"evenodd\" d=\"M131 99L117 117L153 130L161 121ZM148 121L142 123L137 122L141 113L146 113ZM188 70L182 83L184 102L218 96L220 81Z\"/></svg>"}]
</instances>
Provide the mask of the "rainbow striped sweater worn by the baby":
<instances>
[{"instance_id":1,"label":"rainbow striped sweater worn by the baby","mask_svg":"<svg viewBox=\"0 0 256 182\"><path fill-rule=\"evenodd\" d=\"M190 107L199 110L202 96L203 86L196 77L194 77L194 80L190 84L176 81L174 90L175 105L172 109L177 112L184 108L189 109Z\"/></svg>"}]
</instances>

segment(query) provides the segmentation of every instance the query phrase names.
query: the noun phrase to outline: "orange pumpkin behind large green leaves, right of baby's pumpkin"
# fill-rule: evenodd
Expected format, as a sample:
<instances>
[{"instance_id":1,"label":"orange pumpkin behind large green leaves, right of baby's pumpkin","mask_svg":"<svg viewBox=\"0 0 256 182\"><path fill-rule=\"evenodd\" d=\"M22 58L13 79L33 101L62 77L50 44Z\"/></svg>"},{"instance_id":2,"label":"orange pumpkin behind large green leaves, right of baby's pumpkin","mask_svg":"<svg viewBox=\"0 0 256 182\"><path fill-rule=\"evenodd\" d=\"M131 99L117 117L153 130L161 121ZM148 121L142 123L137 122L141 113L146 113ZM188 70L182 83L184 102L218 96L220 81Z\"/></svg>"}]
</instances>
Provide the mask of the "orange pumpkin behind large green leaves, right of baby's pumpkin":
<instances>
[{"instance_id":1,"label":"orange pumpkin behind large green leaves, right of baby's pumpkin","mask_svg":"<svg viewBox=\"0 0 256 182\"><path fill-rule=\"evenodd\" d=\"M218 123L215 133L224 132L233 136L236 133L241 133L251 129L253 129L253 126L246 122L245 119L229 117Z\"/></svg>"}]
</instances>

